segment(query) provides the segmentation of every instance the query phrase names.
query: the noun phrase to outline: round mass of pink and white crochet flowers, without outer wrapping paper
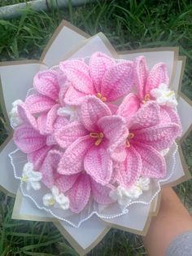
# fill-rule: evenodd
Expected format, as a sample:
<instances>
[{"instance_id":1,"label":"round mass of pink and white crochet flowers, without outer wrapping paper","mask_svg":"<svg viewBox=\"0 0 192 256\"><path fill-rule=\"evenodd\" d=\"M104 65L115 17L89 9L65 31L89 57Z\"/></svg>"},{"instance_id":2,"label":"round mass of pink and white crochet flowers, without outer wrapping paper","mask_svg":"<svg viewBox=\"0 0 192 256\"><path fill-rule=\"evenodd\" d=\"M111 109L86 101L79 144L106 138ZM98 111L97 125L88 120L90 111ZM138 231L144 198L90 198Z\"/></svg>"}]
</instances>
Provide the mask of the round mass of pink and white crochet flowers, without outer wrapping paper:
<instances>
[{"instance_id":1,"label":"round mass of pink and white crochet flowers, without outer wrapping paper","mask_svg":"<svg viewBox=\"0 0 192 256\"><path fill-rule=\"evenodd\" d=\"M61 219L86 218L89 209L104 218L111 205L111 216L125 213L167 177L166 157L181 135L176 107L166 65L148 70L144 56L95 52L37 73L10 113L28 159L21 188L41 191L39 204Z\"/></svg>"}]
</instances>

